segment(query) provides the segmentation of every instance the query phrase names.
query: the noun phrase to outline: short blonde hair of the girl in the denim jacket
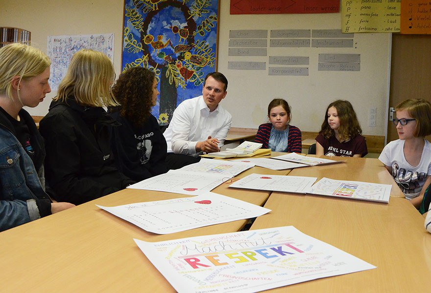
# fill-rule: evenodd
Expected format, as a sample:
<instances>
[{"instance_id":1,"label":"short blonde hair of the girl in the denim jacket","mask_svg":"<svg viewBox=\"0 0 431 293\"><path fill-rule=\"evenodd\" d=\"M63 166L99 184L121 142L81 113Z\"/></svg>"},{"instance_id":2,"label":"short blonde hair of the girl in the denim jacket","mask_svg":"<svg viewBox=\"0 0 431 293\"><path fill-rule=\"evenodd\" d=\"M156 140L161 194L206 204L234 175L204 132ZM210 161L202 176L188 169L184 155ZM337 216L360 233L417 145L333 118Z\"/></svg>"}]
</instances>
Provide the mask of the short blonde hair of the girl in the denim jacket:
<instances>
[{"instance_id":1,"label":"short blonde hair of the girl in the denim jacket","mask_svg":"<svg viewBox=\"0 0 431 293\"><path fill-rule=\"evenodd\" d=\"M42 74L51 64L41 50L21 43L6 45L0 49L0 95L12 99L12 79L22 79Z\"/></svg>"}]
</instances>

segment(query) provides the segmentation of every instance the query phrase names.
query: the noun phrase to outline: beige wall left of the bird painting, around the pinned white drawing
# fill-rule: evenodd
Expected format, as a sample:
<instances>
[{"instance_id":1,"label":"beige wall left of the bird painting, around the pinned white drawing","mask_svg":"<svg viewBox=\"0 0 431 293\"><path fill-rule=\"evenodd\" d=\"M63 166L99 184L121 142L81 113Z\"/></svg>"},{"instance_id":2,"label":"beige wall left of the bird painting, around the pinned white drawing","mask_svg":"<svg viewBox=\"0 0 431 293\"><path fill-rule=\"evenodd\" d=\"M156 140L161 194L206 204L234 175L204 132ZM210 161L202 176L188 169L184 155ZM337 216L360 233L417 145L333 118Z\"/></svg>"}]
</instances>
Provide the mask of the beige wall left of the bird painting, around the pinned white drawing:
<instances>
[{"instance_id":1,"label":"beige wall left of the bird painting, around the pinned white drawing","mask_svg":"<svg viewBox=\"0 0 431 293\"><path fill-rule=\"evenodd\" d=\"M31 32L32 45L47 52L47 37L58 35L115 34L114 66L121 67L122 0L0 0L0 26L18 27ZM30 114L48 113L55 92Z\"/></svg>"}]
</instances>

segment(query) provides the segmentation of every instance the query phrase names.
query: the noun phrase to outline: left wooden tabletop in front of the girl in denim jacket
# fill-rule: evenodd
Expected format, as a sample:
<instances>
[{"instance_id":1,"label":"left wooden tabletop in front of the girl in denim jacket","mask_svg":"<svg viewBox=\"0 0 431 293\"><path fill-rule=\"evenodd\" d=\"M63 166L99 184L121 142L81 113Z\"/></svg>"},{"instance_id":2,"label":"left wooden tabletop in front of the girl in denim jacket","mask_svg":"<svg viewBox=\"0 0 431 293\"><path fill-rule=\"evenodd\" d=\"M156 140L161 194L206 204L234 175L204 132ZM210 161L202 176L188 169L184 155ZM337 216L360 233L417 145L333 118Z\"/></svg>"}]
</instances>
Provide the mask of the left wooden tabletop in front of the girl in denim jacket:
<instances>
[{"instance_id":1,"label":"left wooden tabletop in front of the girl in denim jacket","mask_svg":"<svg viewBox=\"0 0 431 293\"><path fill-rule=\"evenodd\" d=\"M287 174L253 167L253 172ZM270 191L228 188L213 192L263 206ZM131 203L187 197L183 194L124 189L75 208L0 233L1 292L175 292L136 246L133 238L164 241L235 232L247 219L158 235L102 209Z\"/></svg>"}]
</instances>

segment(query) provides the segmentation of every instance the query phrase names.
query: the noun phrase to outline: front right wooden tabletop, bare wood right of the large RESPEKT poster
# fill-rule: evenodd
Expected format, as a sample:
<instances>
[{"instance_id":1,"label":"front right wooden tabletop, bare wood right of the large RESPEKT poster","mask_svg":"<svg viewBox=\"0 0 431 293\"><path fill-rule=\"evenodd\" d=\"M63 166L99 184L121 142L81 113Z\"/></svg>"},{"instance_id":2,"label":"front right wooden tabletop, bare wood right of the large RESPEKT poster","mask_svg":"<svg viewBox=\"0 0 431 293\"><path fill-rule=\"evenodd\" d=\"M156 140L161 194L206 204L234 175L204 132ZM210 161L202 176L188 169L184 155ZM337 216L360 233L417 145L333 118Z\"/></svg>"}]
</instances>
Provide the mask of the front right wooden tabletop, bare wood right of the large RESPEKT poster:
<instances>
[{"instance_id":1,"label":"front right wooden tabletop, bare wood right of the large RESPEKT poster","mask_svg":"<svg viewBox=\"0 0 431 293\"><path fill-rule=\"evenodd\" d=\"M378 267L271 292L430 292L431 234L404 198L389 204L273 192L251 230L294 226Z\"/></svg>"}]
</instances>

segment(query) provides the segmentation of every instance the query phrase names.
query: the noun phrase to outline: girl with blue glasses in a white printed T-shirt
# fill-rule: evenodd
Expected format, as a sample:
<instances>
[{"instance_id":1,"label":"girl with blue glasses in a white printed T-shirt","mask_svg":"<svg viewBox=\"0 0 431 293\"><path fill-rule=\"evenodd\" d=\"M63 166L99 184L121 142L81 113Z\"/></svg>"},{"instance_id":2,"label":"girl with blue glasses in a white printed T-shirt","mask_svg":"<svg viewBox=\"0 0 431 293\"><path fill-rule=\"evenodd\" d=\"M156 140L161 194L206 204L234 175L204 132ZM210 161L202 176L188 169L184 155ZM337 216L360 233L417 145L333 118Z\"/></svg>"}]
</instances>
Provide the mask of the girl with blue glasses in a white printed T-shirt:
<instances>
[{"instance_id":1,"label":"girl with blue glasses in a white printed T-shirt","mask_svg":"<svg viewBox=\"0 0 431 293\"><path fill-rule=\"evenodd\" d=\"M388 143L379 160L406 198L419 209L431 183L431 144L425 139L431 134L431 104L423 99L409 99L395 110L397 119L393 122L400 139Z\"/></svg>"}]
</instances>

